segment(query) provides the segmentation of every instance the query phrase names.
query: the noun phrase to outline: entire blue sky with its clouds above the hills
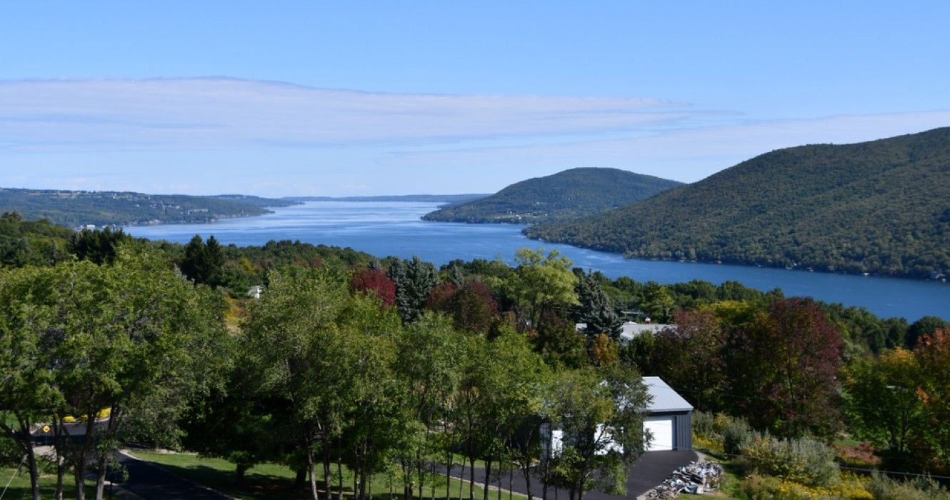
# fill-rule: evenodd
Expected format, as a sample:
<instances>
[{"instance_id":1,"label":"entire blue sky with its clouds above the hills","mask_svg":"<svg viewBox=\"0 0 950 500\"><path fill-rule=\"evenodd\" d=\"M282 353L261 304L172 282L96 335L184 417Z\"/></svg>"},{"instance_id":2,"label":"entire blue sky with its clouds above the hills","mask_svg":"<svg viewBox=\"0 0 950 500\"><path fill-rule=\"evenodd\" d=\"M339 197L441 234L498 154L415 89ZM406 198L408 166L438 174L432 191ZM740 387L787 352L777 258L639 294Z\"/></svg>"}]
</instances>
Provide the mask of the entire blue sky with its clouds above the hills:
<instances>
[{"instance_id":1,"label":"entire blue sky with its clouds above the hills","mask_svg":"<svg viewBox=\"0 0 950 500\"><path fill-rule=\"evenodd\" d=\"M950 125L950 2L0 3L0 186L695 182Z\"/></svg>"}]
</instances>

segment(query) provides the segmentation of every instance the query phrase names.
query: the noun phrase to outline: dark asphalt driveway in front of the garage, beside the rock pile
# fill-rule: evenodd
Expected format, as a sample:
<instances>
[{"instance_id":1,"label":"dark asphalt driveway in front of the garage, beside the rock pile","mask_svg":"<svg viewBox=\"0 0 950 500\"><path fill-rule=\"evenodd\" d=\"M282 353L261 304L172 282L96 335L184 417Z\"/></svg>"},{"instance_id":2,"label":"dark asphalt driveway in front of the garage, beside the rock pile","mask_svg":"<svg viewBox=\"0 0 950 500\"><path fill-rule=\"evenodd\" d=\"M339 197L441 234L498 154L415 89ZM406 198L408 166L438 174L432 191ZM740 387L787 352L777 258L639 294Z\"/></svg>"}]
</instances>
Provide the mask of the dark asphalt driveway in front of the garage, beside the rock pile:
<instances>
[{"instance_id":1,"label":"dark asphalt driveway in front of the garage, beside the rock pile","mask_svg":"<svg viewBox=\"0 0 950 500\"><path fill-rule=\"evenodd\" d=\"M584 500L618 500L620 498L637 498L637 496L656 488L659 486L664 479L666 479L676 468L689 465L690 462L696 460L698 457L695 452L691 451L674 451L674 452L648 452L644 453L643 456L637 460L637 464L634 465L630 470L630 475L627 476L627 495L626 496L615 496L603 493L600 491L590 491L584 493ZM443 469L445 471L445 469ZM455 467L452 469L452 474L455 476L459 475L461 468ZM494 475L494 474L493 474ZM524 477L521 471L515 471L514 476L512 477L512 482L508 483L508 473L504 472L504 477L502 478L502 488L504 490L514 490L520 493L527 493L527 485L524 482ZM468 470L465 472L465 477L463 479L468 479ZM485 470L476 469L475 470L475 482L485 483ZM492 486L497 486L497 480L491 482ZM531 493L535 497L540 497L541 490L541 481L536 479L531 480ZM493 493L494 495L495 493ZM568 497L568 492L561 490L549 490L547 500L558 500L566 499ZM494 500L496 496L490 496L490 499ZM503 500L506 500L506 496L502 495Z\"/></svg>"}]
</instances>

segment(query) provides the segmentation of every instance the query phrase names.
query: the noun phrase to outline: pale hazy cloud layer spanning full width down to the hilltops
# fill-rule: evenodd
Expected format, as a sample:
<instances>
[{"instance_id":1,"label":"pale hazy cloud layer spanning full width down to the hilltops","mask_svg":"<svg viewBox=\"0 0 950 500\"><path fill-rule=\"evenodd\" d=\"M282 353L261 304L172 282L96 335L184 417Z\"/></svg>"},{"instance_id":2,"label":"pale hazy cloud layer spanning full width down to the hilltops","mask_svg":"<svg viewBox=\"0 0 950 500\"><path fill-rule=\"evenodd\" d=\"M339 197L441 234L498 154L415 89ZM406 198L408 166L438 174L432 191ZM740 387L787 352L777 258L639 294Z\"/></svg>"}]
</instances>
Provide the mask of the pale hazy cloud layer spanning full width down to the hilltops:
<instances>
[{"instance_id":1,"label":"pale hazy cloud layer spanning full width down to the hilltops","mask_svg":"<svg viewBox=\"0 0 950 500\"><path fill-rule=\"evenodd\" d=\"M489 192L578 166L692 182L771 149L946 125L950 110L753 120L661 99L372 93L232 79L0 81L0 185Z\"/></svg>"}]
</instances>

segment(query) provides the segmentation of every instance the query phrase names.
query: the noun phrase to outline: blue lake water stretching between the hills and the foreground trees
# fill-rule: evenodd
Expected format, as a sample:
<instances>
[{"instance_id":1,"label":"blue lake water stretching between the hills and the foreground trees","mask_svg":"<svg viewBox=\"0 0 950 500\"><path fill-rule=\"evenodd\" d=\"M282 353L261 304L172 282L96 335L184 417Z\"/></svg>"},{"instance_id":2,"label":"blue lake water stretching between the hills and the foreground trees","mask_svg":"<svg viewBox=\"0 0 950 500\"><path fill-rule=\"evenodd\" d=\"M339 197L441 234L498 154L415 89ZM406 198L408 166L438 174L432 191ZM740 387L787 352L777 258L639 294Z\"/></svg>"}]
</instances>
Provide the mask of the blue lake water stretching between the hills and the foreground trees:
<instances>
[{"instance_id":1,"label":"blue lake water stretching between the hills and the foreground trees","mask_svg":"<svg viewBox=\"0 0 950 500\"><path fill-rule=\"evenodd\" d=\"M575 265L599 270L611 278L628 276L661 283L704 279L719 284L736 280L759 290L781 288L786 296L808 296L829 302L864 306L881 317L923 316L950 319L950 283L889 279L786 269L704 264L664 260L630 260L618 254L570 245L528 240L521 226L426 222L419 218L438 203L307 202L276 208L274 214L228 219L213 224L130 226L125 231L151 240L186 242L194 235L214 235L222 243L260 245L268 240L301 240L349 246L377 257L414 255L441 265L449 260L511 261L523 246L556 248Z\"/></svg>"}]
</instances>

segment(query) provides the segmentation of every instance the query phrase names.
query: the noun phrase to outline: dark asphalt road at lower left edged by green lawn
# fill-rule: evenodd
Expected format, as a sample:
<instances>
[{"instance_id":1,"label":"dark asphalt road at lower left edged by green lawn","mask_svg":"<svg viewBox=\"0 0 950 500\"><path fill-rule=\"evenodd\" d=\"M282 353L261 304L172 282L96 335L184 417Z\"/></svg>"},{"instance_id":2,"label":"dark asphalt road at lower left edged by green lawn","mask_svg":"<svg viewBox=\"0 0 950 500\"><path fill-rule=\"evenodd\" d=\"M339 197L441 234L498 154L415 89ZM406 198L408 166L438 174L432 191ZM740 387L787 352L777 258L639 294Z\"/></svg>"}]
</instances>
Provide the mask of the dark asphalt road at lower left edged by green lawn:
<instances>
[{"instance_id":1,"label":"dark asphalt road at lower left edged by green lawn","mask_svg":"<svg viewBox=\"0 0 950 500\"><path fill-rule=\"evenodd\" d=\"M165 471L138 458L120 452L118 460L128 470L128 480L122 484L123 490L132 492L145 500L228 500L231 497L200 487L191 481Z\"/></svg>"}]
</instances>

